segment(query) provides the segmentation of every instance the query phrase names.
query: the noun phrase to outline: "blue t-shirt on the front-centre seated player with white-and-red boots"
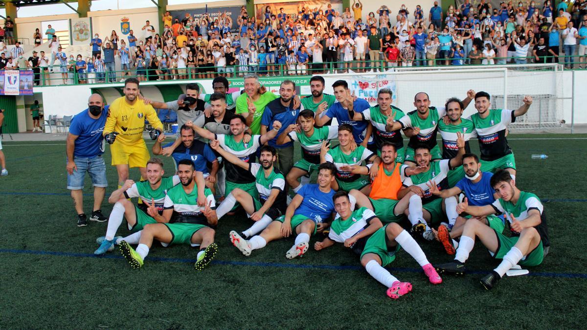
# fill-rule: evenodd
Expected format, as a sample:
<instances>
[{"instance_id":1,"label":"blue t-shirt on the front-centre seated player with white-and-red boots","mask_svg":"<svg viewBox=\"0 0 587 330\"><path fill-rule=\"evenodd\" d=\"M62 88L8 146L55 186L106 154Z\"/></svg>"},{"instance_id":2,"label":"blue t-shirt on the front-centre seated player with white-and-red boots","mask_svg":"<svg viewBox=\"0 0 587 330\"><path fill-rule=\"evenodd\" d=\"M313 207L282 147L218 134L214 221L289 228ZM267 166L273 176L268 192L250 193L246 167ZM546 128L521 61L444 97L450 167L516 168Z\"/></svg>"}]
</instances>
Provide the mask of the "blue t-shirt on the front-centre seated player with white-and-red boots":
<instances>
[{"instance_id":1,"label":"blue t-shirt on the front-centre seated player with white-and-red boots","mask_svg":"<svg viewBox=\"0 0 587 330\"><path fill-rule=\"evenodd\" d=\"M332 196L335 191L330 189L328 193L320 191L318 184L306 184L299 191L298 195L303 197L302 204L296 208L294 215L301 214L315 223L322 223L332 216L334 203Z\"/></svg>"}]
</instances>

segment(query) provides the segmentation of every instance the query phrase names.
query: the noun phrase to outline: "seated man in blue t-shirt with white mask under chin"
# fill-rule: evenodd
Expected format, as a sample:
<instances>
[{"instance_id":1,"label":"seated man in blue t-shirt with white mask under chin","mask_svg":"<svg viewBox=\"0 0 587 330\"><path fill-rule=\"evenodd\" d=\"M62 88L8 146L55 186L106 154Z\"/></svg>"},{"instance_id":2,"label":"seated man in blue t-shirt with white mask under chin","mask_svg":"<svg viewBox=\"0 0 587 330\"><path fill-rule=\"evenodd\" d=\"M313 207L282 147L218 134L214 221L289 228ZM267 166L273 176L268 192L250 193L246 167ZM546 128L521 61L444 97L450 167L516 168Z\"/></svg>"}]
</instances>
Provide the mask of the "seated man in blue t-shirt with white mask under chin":
<instances>
[{"instance_id":1,"label":"seated man in blue t-shirt with white mask under chin","mask_svg":"<svg viewBox=\"0 0 587 330\"><path fill-rule=\"evenodd\" d=\"M491 186L490 172L481 171L481 163L476 154L467 153L463 156L463 170L465 177L457 182L456 186L446 190L438 190L434 182L430 182L430 193L441 198L456 198L460 193L465 195L468 203L473 206L485 206L492 204L495 198L495 190ZM455 196L455 197L453 197ZM461 217L457 210L446 208L446 214L449 223L442 223L438 226L438 231L433 230L433 233L438 241L444 245L448 254L454 254L458 243L454 238L460 237L463 234L463 228L467 221L483 221L498 233L504 230L503 217L496 217L490 215L484 218Z\"/></svg>"}]
</instances>

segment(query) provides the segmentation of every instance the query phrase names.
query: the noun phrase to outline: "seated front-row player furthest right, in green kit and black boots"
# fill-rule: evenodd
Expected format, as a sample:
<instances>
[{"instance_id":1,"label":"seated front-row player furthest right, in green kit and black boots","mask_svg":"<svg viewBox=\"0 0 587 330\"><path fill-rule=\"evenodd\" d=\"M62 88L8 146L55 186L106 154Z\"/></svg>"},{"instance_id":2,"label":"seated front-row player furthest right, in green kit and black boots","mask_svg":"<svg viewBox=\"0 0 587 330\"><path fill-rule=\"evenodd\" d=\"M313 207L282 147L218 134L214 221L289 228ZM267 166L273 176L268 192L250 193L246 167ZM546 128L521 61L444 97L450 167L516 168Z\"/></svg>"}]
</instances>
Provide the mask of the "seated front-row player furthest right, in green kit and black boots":
<instances>
[{"instance_id":1,"label":"seated front-row player furthest right, in green kit and black boots","mask_svg":"<svg viewBox=\"0 0 587 330\"><path fill-rule=\"evenodd\" d=\"M520 191L507 170L495 172L490 183L500 196L498 200L490 205L469 206L465 198L463 203L458 204L457 211L473 217L504 214L510 223L510 237L498 233L481 221L467 221L454 261L436 266L441 274L465 274L465 261L473 250L475 237L479 237L492 257L502 260L490 274L481 278L481 285L485 289L493 288L514 265L533 267L541 264L550 246L544 206L540 198Z\"/></svg>"}]
</instances>

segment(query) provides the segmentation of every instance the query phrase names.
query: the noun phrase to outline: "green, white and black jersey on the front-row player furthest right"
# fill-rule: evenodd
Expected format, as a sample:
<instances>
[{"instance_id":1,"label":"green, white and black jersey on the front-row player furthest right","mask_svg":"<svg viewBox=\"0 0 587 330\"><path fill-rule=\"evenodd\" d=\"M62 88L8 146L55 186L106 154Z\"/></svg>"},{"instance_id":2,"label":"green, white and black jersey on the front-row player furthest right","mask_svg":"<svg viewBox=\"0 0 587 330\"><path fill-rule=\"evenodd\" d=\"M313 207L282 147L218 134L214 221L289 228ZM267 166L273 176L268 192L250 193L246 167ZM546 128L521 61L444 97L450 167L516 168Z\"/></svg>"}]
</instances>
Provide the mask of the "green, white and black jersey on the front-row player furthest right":
<instances>
[{"instance_id":1,"label":"green, white and black jersey on the front-row player furthest right","mask_svg":"<svg viewBox=\"0 0 587 330\"><path fill-rule=\"evenodd\" d=\"M527 193L525 191L519 192L518 203L514 204L511 201L504 201L502 198L495 200L491 206L495 209L495 213L497 214L504 214L505 218L512 223L511 214L514 215L516 220L523 221L525 218L528 217L528 212L530 210L538 210L540 213L541 223L537 225L536 230L538 234L540 234L540 238L542 239L542 243L546 245L548 243L548 230L546 228L546 217L544 217L544 206L542 206L542 202L540 198L532 193ZM519 235L519 233L515 233L512 231L512 235Z\"/></svg>"}]
</instances>

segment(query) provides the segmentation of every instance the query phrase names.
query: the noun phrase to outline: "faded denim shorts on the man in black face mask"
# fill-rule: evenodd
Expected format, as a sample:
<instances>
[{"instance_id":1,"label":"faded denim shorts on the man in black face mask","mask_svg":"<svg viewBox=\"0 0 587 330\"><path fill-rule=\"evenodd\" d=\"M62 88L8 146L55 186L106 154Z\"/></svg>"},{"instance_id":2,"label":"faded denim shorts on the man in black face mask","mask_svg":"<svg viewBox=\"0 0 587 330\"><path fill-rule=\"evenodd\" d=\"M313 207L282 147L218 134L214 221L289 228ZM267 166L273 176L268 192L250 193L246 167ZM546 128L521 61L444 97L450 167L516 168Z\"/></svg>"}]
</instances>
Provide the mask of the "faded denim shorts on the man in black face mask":
<instances>
[{"instance_id":1,"label":"faded denim shorts on the man in black face mask","mask_svg":"<svg viewBox=\"0 0 587 330\"><path fill-rule=\"evenodd\" d=\"M77 170L73 174L68 174L68 189L80 190L83 189L83 180L86 178L86 172L90 173L92 179L92 186L105 188L108 187L108 180L106 179L106 164L102 156L95 156L92 158L73 157L73 162Z\"/></svg>"}]
</instances>

